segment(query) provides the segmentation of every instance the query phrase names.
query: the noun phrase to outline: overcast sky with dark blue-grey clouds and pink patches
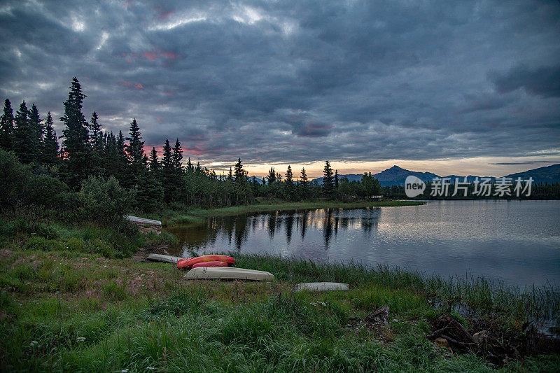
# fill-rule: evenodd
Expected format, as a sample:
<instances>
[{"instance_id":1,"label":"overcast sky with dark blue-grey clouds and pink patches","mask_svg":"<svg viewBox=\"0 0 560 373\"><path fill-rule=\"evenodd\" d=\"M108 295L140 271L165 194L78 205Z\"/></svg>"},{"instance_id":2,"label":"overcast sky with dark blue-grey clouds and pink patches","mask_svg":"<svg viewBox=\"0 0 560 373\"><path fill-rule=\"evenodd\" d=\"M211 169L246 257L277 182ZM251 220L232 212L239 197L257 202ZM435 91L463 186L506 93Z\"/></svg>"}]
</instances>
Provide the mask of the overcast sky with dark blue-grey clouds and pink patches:
<instances>
[{"instance_id":1,"label":"overcast sky with dark blue-grey clouds and pink patches","mask_svg":"<svg viewBox=\"0 0 560 373\"><path fill-rule=\"evenodd\" d=\"M505 174L560 162L559 40L559 1L1 1L0 96L59 117L76 76L218 168Z\"/></svg>"}]
</instances>

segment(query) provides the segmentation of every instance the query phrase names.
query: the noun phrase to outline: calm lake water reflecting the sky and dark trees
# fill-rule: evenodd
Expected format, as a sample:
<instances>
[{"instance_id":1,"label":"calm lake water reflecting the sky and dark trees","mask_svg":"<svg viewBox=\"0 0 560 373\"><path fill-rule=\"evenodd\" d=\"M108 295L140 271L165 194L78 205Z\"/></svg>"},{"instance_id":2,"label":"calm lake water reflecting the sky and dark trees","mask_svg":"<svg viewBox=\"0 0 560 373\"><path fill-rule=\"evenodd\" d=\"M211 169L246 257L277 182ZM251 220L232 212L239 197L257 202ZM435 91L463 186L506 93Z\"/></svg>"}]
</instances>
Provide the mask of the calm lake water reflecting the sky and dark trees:
<instances>
[{"instance_id":1,"label":"calm lake water reflecting the sky and dark trees","mask_svg":"<svg viewBox=\"0 0 560 373\"><path fill-rule=\"evenodd\" d=\"M423 206L275 211L169 230L183 256L274 253L508 285L560 284L560 201L435 201Z\"/></svg>"}]
</instances>

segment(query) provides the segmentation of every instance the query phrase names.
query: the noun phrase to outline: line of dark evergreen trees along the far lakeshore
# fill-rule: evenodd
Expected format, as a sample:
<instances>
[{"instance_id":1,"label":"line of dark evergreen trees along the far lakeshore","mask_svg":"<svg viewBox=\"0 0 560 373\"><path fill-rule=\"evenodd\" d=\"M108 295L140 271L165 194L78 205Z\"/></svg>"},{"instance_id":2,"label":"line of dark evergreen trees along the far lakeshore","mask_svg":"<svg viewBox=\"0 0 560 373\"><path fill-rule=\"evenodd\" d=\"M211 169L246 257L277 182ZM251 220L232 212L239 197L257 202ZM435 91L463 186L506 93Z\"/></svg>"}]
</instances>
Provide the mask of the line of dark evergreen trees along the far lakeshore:
<instances>
[{"instance_id":1,"label":"line of dark evergreen trees along the far lakeshore","mask_svg":"<svg viewBox=\"0 0 560 373\"><path fill-rule=\"evenodd\" d=\"M114 178L134 195L132 208L144 211L159 209L163 204L232 206L254 202L257 197L355 200L381 193L379 181L371 174L364 174L360 182L339 180L338 171L333 172L329 161L325 162L323 183L319 185L309 181L305 169L295 180L290 166L285 174L272 167L262 181L255 176L249 178L240 158L228 174L218 176L213 169L193 164L190 158L183 164L179 139L173 145L166 139L161 156L155 147L146 154L136 119L130 123L127 136L121 131L105 131L96 112L86 120L86 96L77 78L69 88L64 115L59 118L64 124L61 136L57 136L50 112L41 119L35 104L28 108L22 101L14 114L6 99L0 118L0 148L28 164L34 174L57 178L71 190L82 189L90 178Z\"/></svg>"}]
</instances>

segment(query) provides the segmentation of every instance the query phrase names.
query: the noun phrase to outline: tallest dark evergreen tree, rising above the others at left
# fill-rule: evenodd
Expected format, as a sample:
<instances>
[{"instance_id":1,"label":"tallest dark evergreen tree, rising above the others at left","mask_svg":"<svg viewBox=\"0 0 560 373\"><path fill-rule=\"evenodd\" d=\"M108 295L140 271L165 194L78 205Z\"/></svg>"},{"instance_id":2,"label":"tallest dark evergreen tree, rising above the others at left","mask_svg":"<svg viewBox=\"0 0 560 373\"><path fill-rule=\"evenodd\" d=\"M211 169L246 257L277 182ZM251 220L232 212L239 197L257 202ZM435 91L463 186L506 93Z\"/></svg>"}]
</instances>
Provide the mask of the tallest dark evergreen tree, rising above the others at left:
<instances>
[{"instance_id":1,"label":"tallest dark evergreen tree, rising above the others at left","mask_svg":"<svg viewBox=\"0 0 560 373\"><path fill-rule=\"evenodd\" d=\"M64 140L64 178L71 188L78 189L80 182L90 174L91 148L88 141L87 121L82 113L85 94L78 79L70 85L68 99L64 102L64 116L60 118L66 126L62 131Z\"/></svg>"}]
</instances>

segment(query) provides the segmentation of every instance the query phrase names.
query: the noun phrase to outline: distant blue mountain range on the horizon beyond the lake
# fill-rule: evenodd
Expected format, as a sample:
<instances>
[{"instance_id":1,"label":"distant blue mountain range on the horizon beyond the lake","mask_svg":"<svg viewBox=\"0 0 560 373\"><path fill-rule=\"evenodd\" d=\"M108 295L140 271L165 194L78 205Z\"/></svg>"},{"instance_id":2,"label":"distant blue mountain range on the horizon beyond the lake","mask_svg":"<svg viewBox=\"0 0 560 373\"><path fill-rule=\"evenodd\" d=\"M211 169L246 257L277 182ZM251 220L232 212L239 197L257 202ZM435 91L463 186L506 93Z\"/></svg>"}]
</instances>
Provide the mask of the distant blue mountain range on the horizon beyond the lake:
<instances>
[{"instance_id":1,"label":"distant blue mountain range on the horizon beyond the lake","mask_svg":"<svg viewBox=\"0 0 560 373\"><path fill-rule=\"evenodd\" d=\"M362 179L363 174L347 174L347 175L339 175L339 180L346 177L349 181L360 181ZM398 166L393 166L390 169L386 169L384 171L379 172L379 174L374 174L373 176L379 180L379 183L383 186L391 186L391 185L405 185L405 179L407 176L413 175L419 178L421 181L432 181L433 178L449 178L451 183L455 182L455 178L459 178L459 181L463 181L465 176L458 176L458 175L449 175L449 176L439 176L436 174L432 174L431 172L416 172L416 171L409 171L407 169L403 169ZM494 176L475 176L469 175L466 176L467 181L472 183L475 181L475 178L491 178L492 181L496 179ZM533 178L533 183L535 184L544 184L544 183L560 183L560 164L553 164L552 166L546 167L539 167L538 169L530 169L524 172L518 172L517 174L510 174L506 175L507 178L522 178L527 179L529 177ZM319 184L323 184L323 178L316 178Z\"/></svg>"}]
</instances>

